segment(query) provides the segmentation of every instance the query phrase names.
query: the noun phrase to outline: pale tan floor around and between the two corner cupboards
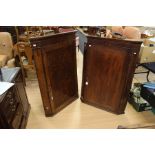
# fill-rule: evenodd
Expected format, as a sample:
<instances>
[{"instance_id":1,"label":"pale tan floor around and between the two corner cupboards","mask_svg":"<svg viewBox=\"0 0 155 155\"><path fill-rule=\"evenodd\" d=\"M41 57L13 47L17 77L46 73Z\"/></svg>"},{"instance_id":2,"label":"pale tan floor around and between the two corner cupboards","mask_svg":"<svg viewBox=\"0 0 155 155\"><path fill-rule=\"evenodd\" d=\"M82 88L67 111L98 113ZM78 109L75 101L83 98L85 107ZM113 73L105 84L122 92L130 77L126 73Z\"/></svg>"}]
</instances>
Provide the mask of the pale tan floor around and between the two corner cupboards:
<instances>
[{"instance_id":1,"label":"pale tan floor around and between the two corner cupboards","mask_svg":"<svg viewBox=\"0 0 155 155\"><path fill-rule=\"evenodd\" d=\"M81 52L77 52L79 90L82 80L82 61L83 55ZM151 111L136 112L130 104L127 105L125 114L115 115L86 105L80 99L71 103L55 116L45 117L36 75L33 72L28 75L26 91L31 104L31 111L27 128L117 128L119 125L155 123L155 114ZM155 80L153 74L150 75L150 78ZM134 78L134 81L145 80L145 74L136 75Z\"/></svg>"}]
</instances>

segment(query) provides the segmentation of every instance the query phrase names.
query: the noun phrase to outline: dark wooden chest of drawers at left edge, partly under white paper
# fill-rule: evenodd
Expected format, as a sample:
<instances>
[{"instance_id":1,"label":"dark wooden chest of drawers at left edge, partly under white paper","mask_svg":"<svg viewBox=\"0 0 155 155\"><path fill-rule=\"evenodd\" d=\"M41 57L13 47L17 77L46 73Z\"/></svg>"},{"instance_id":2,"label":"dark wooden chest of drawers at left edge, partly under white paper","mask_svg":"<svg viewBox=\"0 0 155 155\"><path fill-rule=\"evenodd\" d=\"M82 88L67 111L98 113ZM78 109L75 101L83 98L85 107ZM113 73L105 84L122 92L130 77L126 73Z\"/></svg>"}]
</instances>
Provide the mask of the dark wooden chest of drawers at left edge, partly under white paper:
<instances>
[{"instance_id":1,"label":"dark wooden chest of drawers at left edge, partly under white paper","mask_svg":"<svg viewBox=\"0 0 155 155\"><path fill-rule=\"evenodd\" d=\"M27 99L22 74L19 67L3 68L3 81L13 82L15 85L0 96L0 128L26 128L30 104Z\"/></svg>"}]
</instances>

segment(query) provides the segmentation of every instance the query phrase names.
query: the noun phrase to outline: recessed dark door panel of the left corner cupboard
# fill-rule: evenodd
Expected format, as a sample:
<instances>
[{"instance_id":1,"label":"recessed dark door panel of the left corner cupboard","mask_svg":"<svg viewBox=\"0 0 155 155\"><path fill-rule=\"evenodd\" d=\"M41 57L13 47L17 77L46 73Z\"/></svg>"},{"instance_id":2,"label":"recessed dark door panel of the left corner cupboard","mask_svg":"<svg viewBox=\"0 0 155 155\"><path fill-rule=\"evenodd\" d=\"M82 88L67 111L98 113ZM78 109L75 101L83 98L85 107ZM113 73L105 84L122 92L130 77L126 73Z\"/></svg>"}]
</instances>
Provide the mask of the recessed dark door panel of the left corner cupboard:
<instances>
[{"instance_id":1,"label":"recessed dark door panel of the left corner cupboard","mask_svg":"<svg viewBox=\"0 0 155 155\"><path fill-rule=\"evenodd\" d=\"M64 48L47 51L44 55L46 75L49 77L55 109L75 96L77 92L76 57L73 47L74 44L71 44Z\"/></svg>"}]
</instances>

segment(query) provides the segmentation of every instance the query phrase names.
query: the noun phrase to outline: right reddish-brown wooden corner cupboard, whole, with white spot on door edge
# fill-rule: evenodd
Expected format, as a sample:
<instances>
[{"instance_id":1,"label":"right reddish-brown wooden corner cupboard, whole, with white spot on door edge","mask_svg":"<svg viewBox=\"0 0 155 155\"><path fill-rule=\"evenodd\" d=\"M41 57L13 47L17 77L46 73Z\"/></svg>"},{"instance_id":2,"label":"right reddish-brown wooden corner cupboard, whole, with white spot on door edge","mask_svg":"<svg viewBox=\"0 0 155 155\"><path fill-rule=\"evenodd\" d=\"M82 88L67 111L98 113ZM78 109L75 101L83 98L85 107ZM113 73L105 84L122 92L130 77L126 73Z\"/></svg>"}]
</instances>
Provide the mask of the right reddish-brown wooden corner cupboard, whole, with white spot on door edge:
<instances>
[{"instance_id":1,"label":"right reddish-brown wooden corner cupboard, whole, with white spot on door edge","mask_svg":"<svg viewBox=\"0 0 155 155\"><path fill-rule=\"evenodd\" d=\"M81 100L116 114L124 113L141 43L88 37Z\"/></svg>"}]
</instances>

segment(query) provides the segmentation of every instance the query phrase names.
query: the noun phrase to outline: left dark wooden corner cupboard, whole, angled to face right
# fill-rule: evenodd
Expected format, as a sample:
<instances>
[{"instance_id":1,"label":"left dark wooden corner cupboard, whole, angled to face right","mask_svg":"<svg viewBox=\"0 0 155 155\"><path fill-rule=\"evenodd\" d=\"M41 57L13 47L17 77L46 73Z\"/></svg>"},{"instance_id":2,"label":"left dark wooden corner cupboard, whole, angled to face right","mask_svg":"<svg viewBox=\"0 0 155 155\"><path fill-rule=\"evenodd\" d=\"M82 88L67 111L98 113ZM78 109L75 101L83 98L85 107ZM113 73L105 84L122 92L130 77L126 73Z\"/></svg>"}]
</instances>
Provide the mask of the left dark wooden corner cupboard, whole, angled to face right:
<instances>
[{"instance_id":1,"label":"left dark wooden corner cupboard, whole, angled to face right","mask_svg":"<svg viewBox=\"0 0 155 155\"><path fill-rule=\"evenodd\" d=\"M75 33L30 40L46 116L78 98Z\"/></svg>"}]
</instances>

